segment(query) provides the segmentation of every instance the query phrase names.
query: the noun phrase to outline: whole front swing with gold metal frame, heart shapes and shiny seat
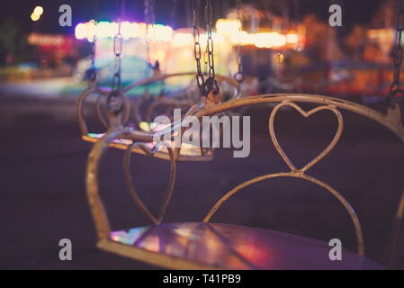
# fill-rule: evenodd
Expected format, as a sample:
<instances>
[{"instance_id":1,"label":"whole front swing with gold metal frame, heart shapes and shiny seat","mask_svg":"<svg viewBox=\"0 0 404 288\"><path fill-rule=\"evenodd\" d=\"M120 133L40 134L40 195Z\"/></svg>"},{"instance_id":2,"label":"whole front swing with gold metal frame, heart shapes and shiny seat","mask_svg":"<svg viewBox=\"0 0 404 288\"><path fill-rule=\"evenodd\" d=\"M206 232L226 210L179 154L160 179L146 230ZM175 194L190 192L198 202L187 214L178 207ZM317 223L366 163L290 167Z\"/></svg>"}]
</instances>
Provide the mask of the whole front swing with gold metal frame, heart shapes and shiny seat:
<instances>
[{"instance_id":1,"label":"whole front swing with gold metal frame, heart shapes and shiny seat","mask_svg":"<svg viewBox=\"0 0 404 288\"><path fill-rule=\"evenodd\" d=\"M196 6L197 8L198 6ZM194 14L198 10L195 8ZM206 1L205 9L211 11L211 0ZM404 14L400 11L400 15ZM209 17L209 16L208 16ZM398 20L400 22L400 20ZM208 22L209 23L209 18ZM401 25L404 23L400 23ZM401 26L403 27L403 26ZM209 32L209 29L208 29ZM398 29L401 35L402 29ZM398 37L400 38L400 36ZM396 48L396 55L402 53L400 41ZM399 56L397 56L399 57ZM139 131L127 130L122 125L122 119L126 117L127 110L121 109L119 103L113 103L115 98L125 103L125 97L121 92L113 92L108 96L109 104L108 120L109 128L101 139L98 139L88 157L86 167L86 192L89 205L93 214L95 228L97 231L97 247L118 254L130 257L151 265L162 266L174 269L378 269L379 264L365 257L364 235L361 223L354 208L346 200L342 193L339 193L331 185L321 179L310 175L310 168L319 164L333 151L340 140L344 130L343 111L354 112L368 119L380 123L390 130L394 135L404 141L404 128L401 123L400 104L395 101L397 94L402 94L400 88L400 67L396 65L396 74L386 112L378 112L362 104L352 103L346 100L314 94L260 94L251 97L230 99L227 102L220 102L219 86L211 86L208 95L187 114L192 114L198 119L203 116L218 115L222 112L229 112L232 109L250 107L254 105L271 103L274 108L270 112L267 122L269 136L274 148L288 167L287 170L257 176L238 184L228 193L224 193L219 201L211 208L201 222L185 223L163 223L166 207L170 202L175 183L175 163L178 160L179 150L167 142L160 142L160 147L165 147L171 159L170 178L167 184L166 196L161 209L155 216L142 202L139 193L132 184L130 175L130 155L134 148L140 149L148 156L153 156L157 146L149 148L148 143L154 140L155 132L140 133ZM198 76L202 74L198 73ZM208 76L203 81L215 81L214 75ZM217 82L214 82L217 83ZM202 98L203 99L203 98ZM108 101L107 101L108 102ZM301 104L310 103L315 107L309 111L304 110ZM278 112L283 108L296 110L301 116L308 118L311 115L321 112L331 112L337 120L337 130L334 137L317 157L314 157L305 166L295 166L293 161L283 150L278 142L274 121ZM173 123L163 130L164 135L174 136L179 130L184 130L181 125ZM151 223L151 226L112 231L108 214L103 206L99 190L100 174L98 172L101 159L107 149L116 145L116 141L127 141L128 145L124 153L124 174L128 185L130 196L136 202ZM296 178L302 181L316 184L325 192L332 194L336 200L346 209L355 231L357 243L356 253L344 249L341 261L330 261L328 257L328 243L301 236L291 235L269 229L255 229L238 225L214 224L212 217L220 207L235 196L244 188L252 184L261 183L275 178ZM404 214L404 193L400 199L396 212L395 222L391 233L391 241L388 247L389 261L386 265L394 266L396 248L400 235L400 226Z\"/></svg>"}]
</instances>

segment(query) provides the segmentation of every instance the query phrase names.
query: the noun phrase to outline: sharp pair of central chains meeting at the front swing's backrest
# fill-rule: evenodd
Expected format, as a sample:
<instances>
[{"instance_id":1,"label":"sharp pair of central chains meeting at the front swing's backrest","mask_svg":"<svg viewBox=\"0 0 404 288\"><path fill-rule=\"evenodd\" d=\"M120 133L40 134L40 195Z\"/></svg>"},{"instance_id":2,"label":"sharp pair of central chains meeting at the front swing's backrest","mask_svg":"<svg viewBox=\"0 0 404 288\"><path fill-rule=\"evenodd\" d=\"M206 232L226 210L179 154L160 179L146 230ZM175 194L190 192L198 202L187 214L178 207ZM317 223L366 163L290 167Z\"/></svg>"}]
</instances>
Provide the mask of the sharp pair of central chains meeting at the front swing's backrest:
<instances>
[{"instance_id":1,"label":"sharp pair of central chains meeting at the front swing's backrest","mask_svg":"<svg viewBox=\"0 0 404 288\"><path fill-rule=\"evenodd\" d=\"M201 7L199 0L193 0L193 53L196 62L196 82L201 90L202 95L216 97L220 94L220 87L215 77L214 67L214 50L213 50L213 38L211 34L211 25L213 22L213 9L211 0L206 0L205 5L205 25L206 25L206 53L208 58L208 78L205 80L202 73L202 48L200 31L198 27L198 14Z\"/></svg>"}]
</instances>

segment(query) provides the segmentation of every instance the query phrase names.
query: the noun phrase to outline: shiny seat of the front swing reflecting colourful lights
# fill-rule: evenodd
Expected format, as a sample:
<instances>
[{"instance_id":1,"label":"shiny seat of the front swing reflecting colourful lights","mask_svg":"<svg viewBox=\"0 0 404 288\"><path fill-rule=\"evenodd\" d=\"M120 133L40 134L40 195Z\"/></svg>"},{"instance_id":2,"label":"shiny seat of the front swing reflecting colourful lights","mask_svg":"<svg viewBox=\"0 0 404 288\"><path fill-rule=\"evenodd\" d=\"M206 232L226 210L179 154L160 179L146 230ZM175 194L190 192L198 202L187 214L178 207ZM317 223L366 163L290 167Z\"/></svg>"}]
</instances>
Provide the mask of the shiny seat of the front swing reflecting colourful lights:
<instances>
[{"instance_id":1,"label":"shiny seat of the front swing reflecting colourful lights","mask_svg":"<svg viewBox=\"0 0 404 288\"><path fill-rule=\"evenodd\" d=\"M316 239L229 224L167 223L113 231L98 247L169 269L382 269L346 248L341 260L332 261L333 247Z\"/></svg>"}]
</instances>

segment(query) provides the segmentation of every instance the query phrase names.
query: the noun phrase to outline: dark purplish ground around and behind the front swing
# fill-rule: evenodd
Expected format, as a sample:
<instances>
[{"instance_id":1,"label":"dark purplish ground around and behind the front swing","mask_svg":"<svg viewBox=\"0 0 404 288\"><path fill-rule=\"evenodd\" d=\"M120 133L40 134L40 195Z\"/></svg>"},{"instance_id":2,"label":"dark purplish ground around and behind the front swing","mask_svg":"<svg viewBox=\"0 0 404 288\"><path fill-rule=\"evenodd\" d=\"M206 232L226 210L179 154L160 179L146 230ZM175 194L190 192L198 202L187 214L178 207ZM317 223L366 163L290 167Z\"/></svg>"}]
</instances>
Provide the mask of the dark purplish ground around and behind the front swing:
<instances>
[{"instance_id":1,"label":"dark purplish ground around and behind the front swing","mask_svg":"<svg viewBox=\"0 0 404 288\"><path fill-rule=\"evenodd\" d=\"M94 226L85 198L85 162L92 145L79 137L74 108L69 99L4 99L0 104L0 268L150 268L94 247ZM247 112L252 115L250 157L232 158L228 148L217 150L212 162L178 164L166 221L202 220L220 195L237 184L256 175L287 171L268 137L268 112L268 107ZM308 120L293 111L278 116L279 140L297 166L328 145L336 128L329 112ZM403 146L379 124L351 112L344 116L342 139L308 174L351 202L363 225L367 256L381 260L403 190ZM101 170L112 228L147 225L130 202L121 157L121 151L111 150ZM134 156L132 166L138 190L156 211L166 187L167 163ZM345 247L355 250L353 225L342 205L303 180L275 179L253 185L230 199L213 221L324 241L340 238ZM71 262L58 260L60 238L72 240Z\"/></svg>"}]
</instances>

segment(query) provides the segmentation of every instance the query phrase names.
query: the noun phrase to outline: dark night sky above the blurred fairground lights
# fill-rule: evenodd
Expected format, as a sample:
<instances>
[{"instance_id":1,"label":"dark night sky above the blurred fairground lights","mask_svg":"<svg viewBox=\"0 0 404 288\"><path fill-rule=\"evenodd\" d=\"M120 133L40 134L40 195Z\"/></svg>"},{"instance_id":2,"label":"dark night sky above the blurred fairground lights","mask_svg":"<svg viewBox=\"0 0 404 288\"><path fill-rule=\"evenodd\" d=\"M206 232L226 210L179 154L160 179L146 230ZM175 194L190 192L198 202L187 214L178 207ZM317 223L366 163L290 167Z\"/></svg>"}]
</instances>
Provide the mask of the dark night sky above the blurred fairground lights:
<instances>
[{"instance_id":1,"label":"dark night sky above the blurred fairground lights","mask_svg":"<svg viewBox=\"0 0 404 288\"><path fill-rule=\"evenodd\" d=\"M175 28L184 27L189 20L186 13L187 8L192 3L192 0L155 0L157 11L157 23L169 24ZM270 1L270 0L268 0ZM282 1L285 0L272 0ZM293 4L293 1L289 2ZM387 0L300 0L301 14L314 13L319 16L319 19L328 21L328 6L330 4L343 5L343 17L346 25L345 31L348 31L354 23L367 23L377 11L382 1ZM175 5L173 14L172 7ZM188 2L186 4L185 2ZM216 0L214 3L215 17L220 17L228 7L235 4L235 0ZM258 3L260 1L244 0L244 3ZM265 1L261 1L265 2ZM96 5L98 3L98 9ZM70 4L73 11L73 26L60 27L58 26L58 6L61 4ZM39 22L31 22L30 15L32 9L36 5L41 5L44 8L44 14ZM126 0L126 16L125 20L143 21L143 0ZM76 23L85 22L88 19L98 15L97 20L112 21L116 15L116 1L114 0L17 0L4 1L0 11L0 19L13 18L22 26L22 30L26 32L40 31L46 33L72 33ZM189 9L189 8L188 8ZM98 12L97 12L98 11ZM291 9L292 11L292 9ZM291 13L291 17L293 14ZM173 19L175 19L173 23Z\"/></svg>"}]
</instances>

